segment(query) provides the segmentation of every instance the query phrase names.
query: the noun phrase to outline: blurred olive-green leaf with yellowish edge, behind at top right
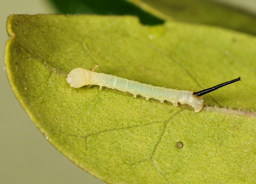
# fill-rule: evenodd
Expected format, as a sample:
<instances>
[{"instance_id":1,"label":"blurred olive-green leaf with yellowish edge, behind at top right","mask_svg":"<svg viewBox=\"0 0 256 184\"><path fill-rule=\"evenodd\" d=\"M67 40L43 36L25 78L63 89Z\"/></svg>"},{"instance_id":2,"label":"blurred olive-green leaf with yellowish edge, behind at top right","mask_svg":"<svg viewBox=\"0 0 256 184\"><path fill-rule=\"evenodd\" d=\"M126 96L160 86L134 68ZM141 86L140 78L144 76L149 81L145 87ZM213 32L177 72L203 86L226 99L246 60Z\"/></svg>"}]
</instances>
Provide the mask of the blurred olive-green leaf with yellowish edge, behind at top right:
<instances>
[{"instance_id":1,"label":"blurred olive-green leaf with yellowish edge, behind at top right","mask_svg":"<svg viewBox=\"0 0 256 184\"><path fill-rule=\"evenodd\" d=\"M57 0L53 0L57 1ZM87 1L87 0L83 0ZM164 20L224 27L256 34L256 17L238 8L212 0L127 0Z\"/></svg>"}]
</instances>

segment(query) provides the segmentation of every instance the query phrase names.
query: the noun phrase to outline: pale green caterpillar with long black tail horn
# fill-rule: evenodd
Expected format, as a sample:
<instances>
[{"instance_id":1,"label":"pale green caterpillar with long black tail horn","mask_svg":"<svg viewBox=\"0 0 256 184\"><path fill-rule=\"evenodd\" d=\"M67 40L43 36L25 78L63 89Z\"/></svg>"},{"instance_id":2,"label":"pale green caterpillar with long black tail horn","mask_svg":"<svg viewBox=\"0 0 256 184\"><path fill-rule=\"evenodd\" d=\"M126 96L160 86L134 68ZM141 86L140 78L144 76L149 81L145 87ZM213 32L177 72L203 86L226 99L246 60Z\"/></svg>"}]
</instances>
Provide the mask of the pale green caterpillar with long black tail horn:
<instances>
[{"instance_id":1,"label":"pale green caterpillar with long black tail horn","mask_svg":"<svg viewBox=\"0 0 256 184\"><path fill-rule=\"evenodd\" d=\"M141 95L145 97L146 100L154 98L160 100L162 103L164 100L172 102L173 106L178 106L178 102L180 104L188 104L195 109L195 112L199 112L204 105L202 95L239 80L240 77L199 92L191 92L142 84L140 82L104 73L97 73L83 68L76 68L70 71L67 77L68 84L74 88L79 88L84 85L105 86L119 91L132 93L134 98L136 98L136 95Z\"/></svg>"}]
</instances>

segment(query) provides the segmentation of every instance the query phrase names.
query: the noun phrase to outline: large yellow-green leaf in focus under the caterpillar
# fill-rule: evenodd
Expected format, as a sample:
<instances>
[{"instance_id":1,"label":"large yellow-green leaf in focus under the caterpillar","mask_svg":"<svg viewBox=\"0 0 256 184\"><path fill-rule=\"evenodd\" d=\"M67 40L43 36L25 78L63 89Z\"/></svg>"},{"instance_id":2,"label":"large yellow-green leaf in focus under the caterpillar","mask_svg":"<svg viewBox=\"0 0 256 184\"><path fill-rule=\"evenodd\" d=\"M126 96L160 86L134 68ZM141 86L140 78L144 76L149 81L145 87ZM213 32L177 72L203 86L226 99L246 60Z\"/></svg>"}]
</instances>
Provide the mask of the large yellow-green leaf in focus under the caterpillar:
<instances>
[{"instance_id":1,"label":"large yellow-green leaf in focus under the caterpillar","mask_svg":"<svg viewBox=\"0 0 256 184\"><path fill-rule=\"evenodd\" d=\"M130 16L11 15L5 65L20 104L46 139L108 183L255 182L256 39L211 26ZM195 113L98 86L69 87L82 67L155 86L199 91ZM178 148L177 143L183 147Z\"/></svg>"}]
</instances>

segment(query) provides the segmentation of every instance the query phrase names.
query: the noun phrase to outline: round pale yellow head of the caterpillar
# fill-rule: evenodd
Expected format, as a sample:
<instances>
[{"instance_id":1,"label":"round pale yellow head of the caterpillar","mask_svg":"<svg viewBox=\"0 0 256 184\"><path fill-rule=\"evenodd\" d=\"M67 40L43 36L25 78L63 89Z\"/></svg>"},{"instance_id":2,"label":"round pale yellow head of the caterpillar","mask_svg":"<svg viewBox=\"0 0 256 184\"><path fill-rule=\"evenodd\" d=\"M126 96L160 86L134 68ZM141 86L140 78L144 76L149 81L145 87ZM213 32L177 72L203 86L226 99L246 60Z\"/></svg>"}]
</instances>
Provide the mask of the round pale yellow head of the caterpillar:
<instances>
[{"instance_id":1,"label":"round pale yellow head of the caterpillar","mask_svg":"<svg viewBox=\"0 0 256 184\"><path fill-rule=\"evenodd\" d=\"M83 68L75 68L71 70L67 77L67 82L71 87L82 87L84 85L89 85L91 80L88 80L88 76L91 79L90 75L88 75L88 71Z\"/></svg>"}]
</instances>

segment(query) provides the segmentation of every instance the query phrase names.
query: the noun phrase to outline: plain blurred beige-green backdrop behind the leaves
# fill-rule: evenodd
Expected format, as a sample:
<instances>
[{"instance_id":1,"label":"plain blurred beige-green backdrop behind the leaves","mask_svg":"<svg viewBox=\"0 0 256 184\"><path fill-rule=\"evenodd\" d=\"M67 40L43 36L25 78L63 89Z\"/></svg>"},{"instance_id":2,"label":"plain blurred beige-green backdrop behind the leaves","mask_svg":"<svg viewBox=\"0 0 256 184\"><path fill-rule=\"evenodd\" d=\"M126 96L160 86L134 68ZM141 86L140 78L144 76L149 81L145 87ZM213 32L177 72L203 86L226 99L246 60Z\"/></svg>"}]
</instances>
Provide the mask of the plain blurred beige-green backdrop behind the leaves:
<instances>
[{"instance_id":1,"label":"plain blurred beige-green backdrop behind the leaves","mask_svg":"<svg viewBox=\"0 0 256 184\"><path fill-rule=\"evenodd\" d=\"M216 1L256 15L256 0ZM46 141L21 108L12 93L4 71L4 45L8 39L5 29L6 18L13 13L68 12L69 10L61 7L62 2L68 1L1 0L0 2L0 183L104 183L82 171ZM81 1L75 0L74 2ZM87 9L88 12L92 11L88 7L84 7L84 9ZM82 13L81 10L77 11ZM156 19L156 21L159 20Z\"/></svg>"}]
</instances>

